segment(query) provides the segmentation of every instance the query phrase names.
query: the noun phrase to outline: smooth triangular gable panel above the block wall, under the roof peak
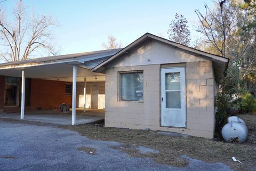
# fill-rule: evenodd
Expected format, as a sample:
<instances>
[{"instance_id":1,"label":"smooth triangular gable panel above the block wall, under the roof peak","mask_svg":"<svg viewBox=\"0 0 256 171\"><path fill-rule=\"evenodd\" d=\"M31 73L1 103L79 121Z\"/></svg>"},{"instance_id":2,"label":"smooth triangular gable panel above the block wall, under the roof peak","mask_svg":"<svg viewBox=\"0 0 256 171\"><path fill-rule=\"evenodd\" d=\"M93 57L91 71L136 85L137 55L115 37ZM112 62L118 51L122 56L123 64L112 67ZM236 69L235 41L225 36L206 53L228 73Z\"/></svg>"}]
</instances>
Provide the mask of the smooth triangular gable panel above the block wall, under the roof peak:
<instances>
[{"instance_id":1,"label":"smooth triangular gable panel above the block wall, under the roof peak","mask_svg":"<svg viewBox=\"0 0 256 171\"><path fill-rule=\"evenodd\" d=\"M178 50L170 45L156 40L140 44L137 48L127 52L106 68L145 66L149 64L182 63L182 62L207 61L193 54Z\"/></svg>"}]
</instances>

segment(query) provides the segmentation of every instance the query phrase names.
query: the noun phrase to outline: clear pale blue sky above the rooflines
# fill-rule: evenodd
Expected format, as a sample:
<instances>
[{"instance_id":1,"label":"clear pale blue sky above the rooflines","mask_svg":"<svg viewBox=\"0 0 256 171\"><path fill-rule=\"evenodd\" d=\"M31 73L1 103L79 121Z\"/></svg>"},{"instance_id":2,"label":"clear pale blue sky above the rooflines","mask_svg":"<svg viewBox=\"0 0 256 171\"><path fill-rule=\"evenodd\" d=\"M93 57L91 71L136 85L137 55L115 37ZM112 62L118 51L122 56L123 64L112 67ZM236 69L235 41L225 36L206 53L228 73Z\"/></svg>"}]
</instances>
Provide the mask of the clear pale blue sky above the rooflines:
<instances>
[{"instance_id":1,"label":"clear pale blue sky above the rooflines","mask_svg":"<svg viewBox=\"0 0 256 171\"><path fill-rule=\"evenodd\" d=\"M15 2L7 0L1 2L0 7L11 14ZM193 30L198 21L195 9L204 11L204 3L213 5L211 0L23 0L23 3L37 14L51 15L58 21L54 45L60 47L59 54L102 50L108 35L116 37L123 47L146 32L168 38L167 30L175 13L185 15L195 39L199 36Z\"/></svg>"}]
</instances>

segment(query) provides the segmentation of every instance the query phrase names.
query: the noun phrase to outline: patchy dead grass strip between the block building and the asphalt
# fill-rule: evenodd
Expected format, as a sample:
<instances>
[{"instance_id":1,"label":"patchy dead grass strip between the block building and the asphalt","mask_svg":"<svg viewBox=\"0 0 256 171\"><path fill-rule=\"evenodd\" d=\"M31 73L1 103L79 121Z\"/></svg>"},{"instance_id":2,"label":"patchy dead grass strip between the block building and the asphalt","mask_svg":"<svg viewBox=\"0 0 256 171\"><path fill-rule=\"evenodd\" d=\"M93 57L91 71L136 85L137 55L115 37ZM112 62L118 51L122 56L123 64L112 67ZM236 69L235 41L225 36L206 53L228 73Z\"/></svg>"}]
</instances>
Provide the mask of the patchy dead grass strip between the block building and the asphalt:
<instances>
[{"instance_id":1,"label":"patchy dead grass strip between the block building and the asphalt","mask_svg":"<svg viewBox=\"0 0 256 171\"><path fill-rule=\"evenodd\" d=\"M241 118L245 120L249 134L255 136L256 116L246 115ZM186 155L205 162L222 162L234 170L250 170L256 166L256 144L251 140L244 144L216 142L193 136L170 137L158 135L154 131L108 128L102 124L61 127L77 131L90 139L124 143L123 148L111 148L125 151L134 157L151 157L160 164L184 167L188 161L180 156ZM158 150L159 153L141 154L135 146L146 146ZM233 156L242 161L243 165L231 160Z\"/></svg>"}]
</instances>

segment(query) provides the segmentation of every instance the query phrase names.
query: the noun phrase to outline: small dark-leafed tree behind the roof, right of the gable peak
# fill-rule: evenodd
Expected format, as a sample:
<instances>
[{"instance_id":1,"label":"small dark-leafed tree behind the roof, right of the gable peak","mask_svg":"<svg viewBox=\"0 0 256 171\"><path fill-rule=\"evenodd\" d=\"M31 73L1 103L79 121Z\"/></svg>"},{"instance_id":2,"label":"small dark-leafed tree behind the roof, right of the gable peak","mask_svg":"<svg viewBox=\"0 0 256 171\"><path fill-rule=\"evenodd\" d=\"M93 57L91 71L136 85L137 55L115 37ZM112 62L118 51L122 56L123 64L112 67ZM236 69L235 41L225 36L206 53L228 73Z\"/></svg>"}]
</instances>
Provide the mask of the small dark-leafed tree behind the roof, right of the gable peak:
<instances>
[{"instance_id":1,"label":"small dark-leafed tree behind the roof, right of the gable peak","mask_svg":"<svg viewBox=\"0 0 256 171\"><path fill-rule=\"evenodd\" d=\"M169 25L170 29L167 31L169 34L169 39L173 42L177 42L183 45L190 44L190 31L187 26L187 19L184 15L175 14L175 19L173 19Z\"/></svg>"}]
</instances>

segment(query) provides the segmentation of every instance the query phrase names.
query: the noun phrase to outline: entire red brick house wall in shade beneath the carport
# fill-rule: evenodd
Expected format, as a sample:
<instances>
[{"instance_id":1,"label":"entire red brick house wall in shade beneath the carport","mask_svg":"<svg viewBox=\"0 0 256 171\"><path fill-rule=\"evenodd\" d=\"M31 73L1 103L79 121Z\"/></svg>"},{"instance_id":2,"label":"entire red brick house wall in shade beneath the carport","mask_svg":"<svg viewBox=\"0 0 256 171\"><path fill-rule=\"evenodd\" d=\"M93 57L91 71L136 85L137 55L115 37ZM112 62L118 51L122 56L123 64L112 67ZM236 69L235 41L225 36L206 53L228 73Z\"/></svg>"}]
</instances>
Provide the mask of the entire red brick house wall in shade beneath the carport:
<instances>
[{"instance_id":1,"label":"entire red brick house wall in shade beneath the carport","mask_svg":"<svg viewBox=\"0 0 256 171\"><path fill-rule=\"evenodd\" d=\"M99 94L105 94L105 82L96 82L99 84ZM70 83L69 83L70 84ZM90 94L90 85L87 83L86 94ZM103 88L101 88L103 85ZM20 107L4 108L4 86L5 77L0 76L0 112L19 112ZM28 85L26 85L27 88ZM76 107L78 108L79 95L83 95L84 83L77 83ZM21 88L20 88L21 89ZM31 89L26 89L26 95L30 91L30 105L25 105L25 110L57 109L61 103L66 103L71 108L72 95L66 94L66 82L53 80L31 79ZM26 100L26 97L25 97ZM104 101L105 102L105 101Z\"/></svg>"}]
</instances>

